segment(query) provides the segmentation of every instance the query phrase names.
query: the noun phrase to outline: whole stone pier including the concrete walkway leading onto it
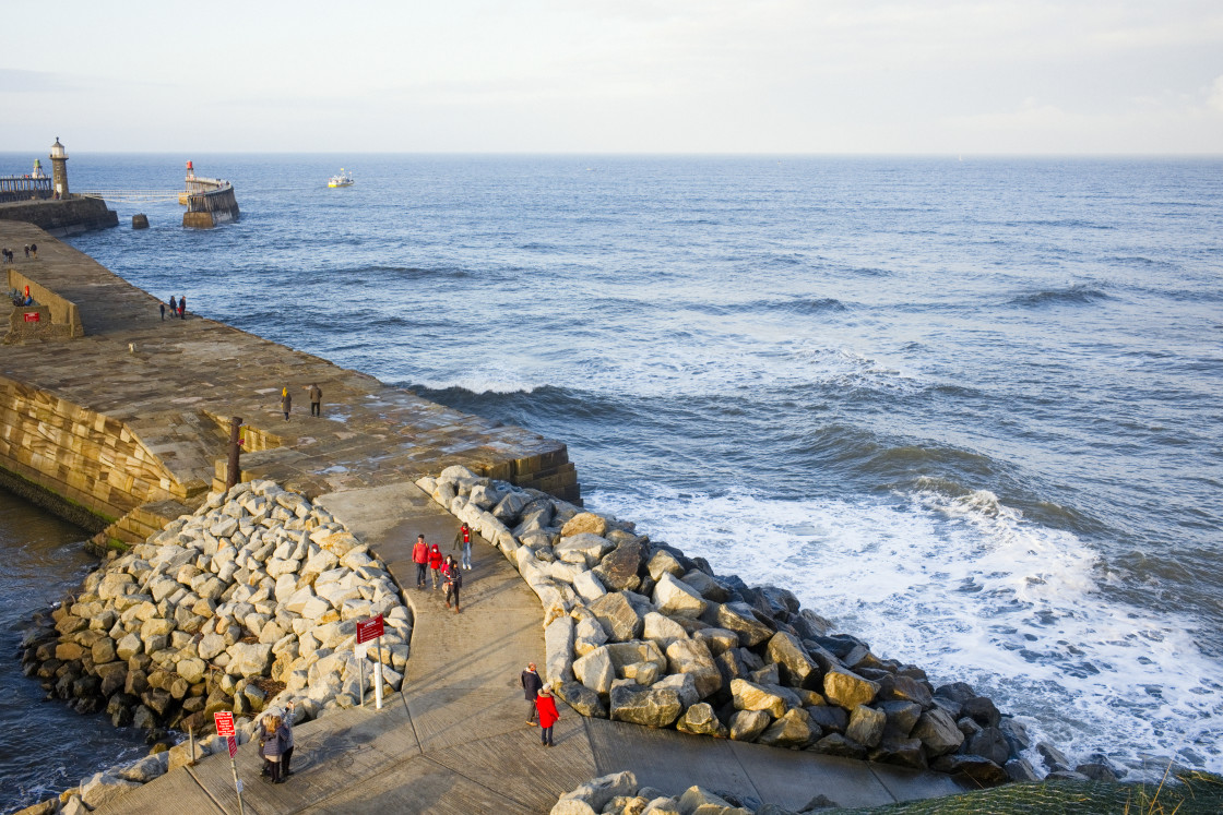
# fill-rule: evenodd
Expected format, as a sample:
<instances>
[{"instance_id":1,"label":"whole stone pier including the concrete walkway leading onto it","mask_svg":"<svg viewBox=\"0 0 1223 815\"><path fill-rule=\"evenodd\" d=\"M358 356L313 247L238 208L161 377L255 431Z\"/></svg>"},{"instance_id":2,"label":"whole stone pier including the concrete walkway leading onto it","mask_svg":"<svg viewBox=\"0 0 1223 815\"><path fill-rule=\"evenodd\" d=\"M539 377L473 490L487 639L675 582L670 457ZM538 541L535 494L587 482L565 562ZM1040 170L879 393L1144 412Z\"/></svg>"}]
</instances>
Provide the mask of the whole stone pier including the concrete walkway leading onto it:
<instances>
[{"instance_id":1,"label":"whole stone pier including the concrete walkway leading onto it","mask_svg":"<svg viewBox=\"0 0 1223 815\"><path fill-rule=\"evenodd\" d=\"M164 323L157 301L35 227L0 222L0 246L35 241L21 272L79 310L83 337L32 340L0 357L0 467L138 536L215 484L230 415L248 425L243 477L307 494L413 587L417 534L446 551L457 522L413 481L451 463L578 499L564 445L432 404L363 374L191 314ZM7 301L0 303L5 325ZM323 389L323 418L303 390ZM280 389L294 393L289 422ZM82 477L81 474L86 475ZM159 514L160 513L160 514ZM126 523L126 525L125 525ZM147 534L147 533L146 533ZM519 673L544 662L538 600L477 539L455 615L440 591L408 588L415 613L404 690L296 731L294 776L259 780L238 751L247 813L547 813L593 776L634 770L679 793L693 783L799 809L960 792L949 777L807 751L582 718L561 707L556 747L525 722ZM99 813L237 813L227 756L163 776Z\"/></svg>"}]
</instances>

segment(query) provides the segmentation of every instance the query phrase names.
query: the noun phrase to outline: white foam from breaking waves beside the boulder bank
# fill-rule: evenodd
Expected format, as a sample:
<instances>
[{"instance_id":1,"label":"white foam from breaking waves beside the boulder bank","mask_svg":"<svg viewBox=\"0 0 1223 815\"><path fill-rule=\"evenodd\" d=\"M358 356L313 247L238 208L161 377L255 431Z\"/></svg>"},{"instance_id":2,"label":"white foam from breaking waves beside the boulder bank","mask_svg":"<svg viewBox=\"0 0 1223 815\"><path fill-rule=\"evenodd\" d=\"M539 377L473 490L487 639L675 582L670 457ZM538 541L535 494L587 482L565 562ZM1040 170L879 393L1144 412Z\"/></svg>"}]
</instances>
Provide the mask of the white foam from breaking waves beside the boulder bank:
<instances>
[{"instance_id":1,"label":"white foam from breaking waves beside the boulder bank","mask_svg":"<svg viewBox=\"0 0 1223 815\"><path fill-rule=\"evenodd\" d=\"M1073 760L1223 770L1219 663L1191 621L1109 596L1081 539L987 491L890 502L598 492L588 503L804 605L883 655L964 681Z\"/></svg>"}]
</instances>

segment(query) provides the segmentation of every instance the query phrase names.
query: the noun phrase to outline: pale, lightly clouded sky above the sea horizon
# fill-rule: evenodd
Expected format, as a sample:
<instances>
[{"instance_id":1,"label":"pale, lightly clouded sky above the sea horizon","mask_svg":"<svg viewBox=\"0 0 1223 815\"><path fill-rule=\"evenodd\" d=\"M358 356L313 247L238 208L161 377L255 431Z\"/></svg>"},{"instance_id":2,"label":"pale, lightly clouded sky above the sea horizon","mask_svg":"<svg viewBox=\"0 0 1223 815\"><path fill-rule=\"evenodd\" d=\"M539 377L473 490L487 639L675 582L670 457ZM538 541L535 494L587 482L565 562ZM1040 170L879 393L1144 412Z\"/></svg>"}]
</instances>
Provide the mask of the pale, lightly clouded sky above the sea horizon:
<instances>
[{"instance_id":1,"label":"pale, lightly clouded sky above the sea horizon","mask_svg":"<svg viewBox=\"0 0 1223 815\"><path fill-rule=\"evenodd\" d=\"M4 0L0 31L0 152L1223 153L1219 0Z\"/></svg>"}]
</instances>

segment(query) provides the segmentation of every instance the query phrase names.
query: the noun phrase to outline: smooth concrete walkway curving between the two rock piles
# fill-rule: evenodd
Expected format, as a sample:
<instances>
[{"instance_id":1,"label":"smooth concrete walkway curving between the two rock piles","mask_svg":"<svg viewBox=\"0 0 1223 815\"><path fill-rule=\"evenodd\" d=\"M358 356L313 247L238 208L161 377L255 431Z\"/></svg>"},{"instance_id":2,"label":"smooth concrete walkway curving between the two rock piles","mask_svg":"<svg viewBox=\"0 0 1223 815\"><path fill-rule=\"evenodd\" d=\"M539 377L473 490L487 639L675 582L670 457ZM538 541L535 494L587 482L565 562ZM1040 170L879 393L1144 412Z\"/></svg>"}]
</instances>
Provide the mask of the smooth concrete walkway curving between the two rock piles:
<instances>
[{"instance_id":1,"label":"smooth concrete walkway curving between the two rock piles","mask_svg":"<svg viewBox=\"0 0 1223 815\"><path fill-rule=\"evenodd\" d=\"M693 783L791 809L824 794L844 806L890 804L963 789L947 776L758 744L582 718L560 705L556 747L526 725L519 673L543 663L539 602L494 547L477 540L462 613L440 591L415 588L411 545L423 533L445 551L457 522L415 485L318 499L386 562L416 626L404 692L382 712L350 710L296 731L294 776L259 781L253 744L238 751L247 813L547 813L589 778L632 770L679 793ZM372 703L368 703L372 705ZM100 813L237 813L229 760L210 756Z\"/></svg>"}]
</instances>

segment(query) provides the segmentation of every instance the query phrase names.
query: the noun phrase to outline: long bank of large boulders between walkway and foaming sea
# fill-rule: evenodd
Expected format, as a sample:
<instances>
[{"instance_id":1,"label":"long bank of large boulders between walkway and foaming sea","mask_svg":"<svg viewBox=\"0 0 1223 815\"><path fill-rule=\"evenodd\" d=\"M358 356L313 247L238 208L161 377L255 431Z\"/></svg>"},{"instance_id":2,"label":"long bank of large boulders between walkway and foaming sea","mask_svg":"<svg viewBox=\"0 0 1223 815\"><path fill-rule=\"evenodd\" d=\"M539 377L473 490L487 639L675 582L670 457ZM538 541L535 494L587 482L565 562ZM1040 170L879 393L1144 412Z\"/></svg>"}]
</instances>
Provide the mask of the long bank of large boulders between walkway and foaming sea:
<instances>
[{"instance_id":1,"label":"long bank of large boulders between walkway and foaming sea","mask_svg":"<svg viewBox=\"0 0 1223 815\"><path fill-rule=\"evenodd\" d=\"M747 587L537 490L449 467L417 481L516 566L548 683L585 716L790 749L1036 780L1021 723L964 683L876 656L777 587Z\"/></svg>"}]
</instances>

